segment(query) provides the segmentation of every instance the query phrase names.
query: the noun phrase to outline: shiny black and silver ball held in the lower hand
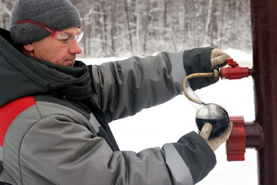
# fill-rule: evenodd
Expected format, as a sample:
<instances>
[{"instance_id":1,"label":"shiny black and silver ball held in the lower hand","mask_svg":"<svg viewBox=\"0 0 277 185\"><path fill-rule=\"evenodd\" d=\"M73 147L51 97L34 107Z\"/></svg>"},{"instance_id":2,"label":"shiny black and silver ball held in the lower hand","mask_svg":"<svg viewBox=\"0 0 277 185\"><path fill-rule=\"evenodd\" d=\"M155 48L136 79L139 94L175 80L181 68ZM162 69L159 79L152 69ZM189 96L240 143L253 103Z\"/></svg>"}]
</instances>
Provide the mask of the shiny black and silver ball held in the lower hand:
<instances>
[{"instance_id":1,"label":"shiny black and silver ball held in the lower hand","mask_svg":"<svg viewBox=\"0 0 277 185\"><path fill-rule=\"evenodd\" d=\"M229 115L220 105L213 103L204 104L196 113L195 121L199 132L205 123L211 123L213 130L208 139L215 139L224 133L229 125Z\"/></svg>"}]
</instances>

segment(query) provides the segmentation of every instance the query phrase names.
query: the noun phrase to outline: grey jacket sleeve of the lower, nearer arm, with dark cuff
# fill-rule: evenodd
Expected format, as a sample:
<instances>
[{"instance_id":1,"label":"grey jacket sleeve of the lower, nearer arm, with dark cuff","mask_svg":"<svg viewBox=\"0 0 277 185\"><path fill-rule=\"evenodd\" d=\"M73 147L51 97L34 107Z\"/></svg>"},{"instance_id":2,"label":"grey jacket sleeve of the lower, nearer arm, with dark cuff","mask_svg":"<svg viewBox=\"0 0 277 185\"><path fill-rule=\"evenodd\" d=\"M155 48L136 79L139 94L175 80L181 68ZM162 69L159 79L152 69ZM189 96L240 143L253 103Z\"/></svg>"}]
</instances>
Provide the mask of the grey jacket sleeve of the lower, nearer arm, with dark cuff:
<instances>
[{"instance_id":1,"label":"grey jacket sleeve of the lower, nearer arm, with dark cuff","mask_svg":"<svg viewBox=\"0 0 277 185\"><path fill-rule=\"evenodd\" d=\"M104 139L60 114L30 127L19 159L24 184L191 185L215 165L212 150L195 132L163 148L113 152Z\"/></svg>"}]
</instances>

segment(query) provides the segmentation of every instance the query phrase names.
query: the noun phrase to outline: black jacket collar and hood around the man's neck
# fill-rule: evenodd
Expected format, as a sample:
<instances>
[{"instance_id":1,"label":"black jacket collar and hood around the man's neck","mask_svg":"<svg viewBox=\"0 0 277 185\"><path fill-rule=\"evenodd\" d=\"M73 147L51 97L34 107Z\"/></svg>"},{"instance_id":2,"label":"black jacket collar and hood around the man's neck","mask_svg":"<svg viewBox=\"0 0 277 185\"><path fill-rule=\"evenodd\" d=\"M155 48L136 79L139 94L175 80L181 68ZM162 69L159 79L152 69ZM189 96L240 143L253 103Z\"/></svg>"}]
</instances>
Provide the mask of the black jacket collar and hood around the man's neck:
<instances>
[{"instance_id":1,"label":"black jacket collar and hood around the man's neck","mask_svg":"<svg viewBox=\"0 0 277 185\"><path fill-rule=\"evenodd\" d=\"M92 95L89 68L59 67L20 53L0 36L0 106L34 94L52 93L60 98L83 100Z\"/></svg>"}]
</instances>

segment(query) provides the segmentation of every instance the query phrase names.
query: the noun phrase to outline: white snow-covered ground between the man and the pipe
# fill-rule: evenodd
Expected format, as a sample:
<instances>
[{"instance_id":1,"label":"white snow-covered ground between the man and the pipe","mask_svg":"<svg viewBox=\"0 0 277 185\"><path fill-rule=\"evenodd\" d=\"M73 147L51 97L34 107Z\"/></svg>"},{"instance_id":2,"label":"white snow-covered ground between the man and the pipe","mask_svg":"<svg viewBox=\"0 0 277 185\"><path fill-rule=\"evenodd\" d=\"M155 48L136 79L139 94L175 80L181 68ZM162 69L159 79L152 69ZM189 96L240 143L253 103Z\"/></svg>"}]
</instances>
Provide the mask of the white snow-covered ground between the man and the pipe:
<instances>
[{"instance_id":1,"label":"white snow-covered ground between the man and the pipe","mask_svg":"<svg viewBox=\"0 0 277 185\"><path fill-rule=\"evenodd\" d=\"M235 49L224 50L241 67L252 67L251 53ZM78 59L86 64L101 64L124 58ZM244 121L253 121L253 80L220 80L209 87L195 91L204 103L222 105L229 116L244 116ZM121 150L139 152L145 148L161 147L164 143L176 142L182 135L197 131L196 110L185 96L176 98L134 116L110 123L111 130ZM217 165L198 185L255 185L258 184L256 150L247 149L245 161L226 161L226 146L215 151Z\"/></svg>"}]
</instances>

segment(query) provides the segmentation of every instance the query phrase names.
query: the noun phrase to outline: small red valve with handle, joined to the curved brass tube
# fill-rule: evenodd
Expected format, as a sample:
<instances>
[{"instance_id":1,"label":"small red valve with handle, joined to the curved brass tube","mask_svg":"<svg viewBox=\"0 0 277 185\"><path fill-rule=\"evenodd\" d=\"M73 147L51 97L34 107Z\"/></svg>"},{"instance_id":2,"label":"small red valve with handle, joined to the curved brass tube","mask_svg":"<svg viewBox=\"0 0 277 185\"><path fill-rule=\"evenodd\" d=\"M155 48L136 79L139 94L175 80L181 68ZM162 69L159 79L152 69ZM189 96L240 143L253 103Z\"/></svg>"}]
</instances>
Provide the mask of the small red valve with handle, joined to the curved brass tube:
<instances>
[{"instance_id":1,"label":"small red valve with handle, joined to the curved brass tube","mask_svg":"<svg viewBox=\"0 0 277 185\"><path fill-rule=\"evenodd\" d=\"M239 67L237 62L233 61L233 58L227 58L227 64L229 67L222 68L220 76L222 79L241 79L244 77L251 76L253 71L248 67Z\"/></svg>"}]
</instances>

